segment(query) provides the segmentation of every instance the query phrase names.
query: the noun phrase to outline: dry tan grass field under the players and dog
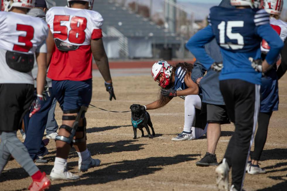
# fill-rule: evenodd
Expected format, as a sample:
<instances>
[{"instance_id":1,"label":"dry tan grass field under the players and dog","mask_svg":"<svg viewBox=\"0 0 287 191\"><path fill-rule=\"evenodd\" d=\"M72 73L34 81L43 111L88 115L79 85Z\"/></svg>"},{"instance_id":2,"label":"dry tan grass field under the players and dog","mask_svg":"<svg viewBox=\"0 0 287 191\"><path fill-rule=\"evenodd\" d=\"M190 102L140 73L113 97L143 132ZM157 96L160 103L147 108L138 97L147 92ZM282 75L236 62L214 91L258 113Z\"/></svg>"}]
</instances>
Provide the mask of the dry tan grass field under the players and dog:
<instances>
[{"instance_id":1,"label":"dry tan grass field under the players and dog","mask_svg":"<svg viewBox=\"0 0 287 191\"><path fill-rule=\"evenodd\" d=\"M93 79L91 104L110 110L127 111L134 103L148 104L158 95L157 83L150 76L114 77L116 101L108 100L102 78ZM264 175L245 176L245 190L287 190L287 75L279 81L280 106L274 112L260 166ZM184 123L184 101L174 98L164 108L149 111L156 136L133 139L130 113L109 113L90 107L87 117L88 149L99 167L78 173L75 149L69 154L68 168L81 175L77 181L52 181L50 190L216 190L215 167L197 167L204 156L206 137L199 140L172 142ZM56 119L61 124L62 112L57 106ZM220 161L234 130L223 125L216 155ZM145 135L146 135L145 131ZM18 132L20 138L20 133ZM21 138L20 138L21 140ZM50 173L56 153L55 142L47 146L48 164L38 165ZM25 190L31 178L13 160L0 175L0 190Z\"/></svg>"}]
</instances>

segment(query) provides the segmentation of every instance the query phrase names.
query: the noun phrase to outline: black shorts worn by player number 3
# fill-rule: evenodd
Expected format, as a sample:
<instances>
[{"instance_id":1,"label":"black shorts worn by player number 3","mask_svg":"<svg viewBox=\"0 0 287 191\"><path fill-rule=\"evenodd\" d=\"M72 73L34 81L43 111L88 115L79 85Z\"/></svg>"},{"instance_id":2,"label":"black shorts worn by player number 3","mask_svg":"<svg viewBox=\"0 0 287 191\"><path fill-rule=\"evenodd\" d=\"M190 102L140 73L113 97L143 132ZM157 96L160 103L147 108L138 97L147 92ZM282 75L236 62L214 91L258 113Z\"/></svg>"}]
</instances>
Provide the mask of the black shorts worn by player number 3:
<instances>
[{"instance_id":1,"label":"black shorts worn by player number 3","mask_svg":"<svg viewBox=\"0 0 287 191\"><path fill-rule=\"evenodd\" d=\"M32 84L0 84L0 131L20 129L33 99Z\"/></svg>"}]
</instances>

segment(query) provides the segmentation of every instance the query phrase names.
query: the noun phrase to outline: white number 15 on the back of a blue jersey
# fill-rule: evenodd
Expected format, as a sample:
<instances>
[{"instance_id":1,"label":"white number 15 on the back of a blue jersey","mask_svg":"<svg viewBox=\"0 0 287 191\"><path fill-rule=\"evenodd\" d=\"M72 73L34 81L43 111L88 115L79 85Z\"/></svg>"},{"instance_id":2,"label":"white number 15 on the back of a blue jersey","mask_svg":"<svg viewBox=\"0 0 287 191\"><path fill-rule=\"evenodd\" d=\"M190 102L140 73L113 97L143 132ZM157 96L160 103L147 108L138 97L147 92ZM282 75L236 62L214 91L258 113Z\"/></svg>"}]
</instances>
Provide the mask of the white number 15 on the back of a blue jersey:
<instances>
[{"instance_id":1,"label":"white number 15 on the back of a blue jersey","mask_svg":"<svg viewBox=\"0 0 287 191\"><path fill-rule=\"evenodd\" d=\"M244 47L244 39L240 33L232 33L233 27L243 27L244 21L228 21L225 29L226 22L222 21L218 25L220 46L224 48L231 48L233 50L242 49ZM225 34L230 40L237 40L237 44L226 44Z\"/></svg>"}]
</instances>

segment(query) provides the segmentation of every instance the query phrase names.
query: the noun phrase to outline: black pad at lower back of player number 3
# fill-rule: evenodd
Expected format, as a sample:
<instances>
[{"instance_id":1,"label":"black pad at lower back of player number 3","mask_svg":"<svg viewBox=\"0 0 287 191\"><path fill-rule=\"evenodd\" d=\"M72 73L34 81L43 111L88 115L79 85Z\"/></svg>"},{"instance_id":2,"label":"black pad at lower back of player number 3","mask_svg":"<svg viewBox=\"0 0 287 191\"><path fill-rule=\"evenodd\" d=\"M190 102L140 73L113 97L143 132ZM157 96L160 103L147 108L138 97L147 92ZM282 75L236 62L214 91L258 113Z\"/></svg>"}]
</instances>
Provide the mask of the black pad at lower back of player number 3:
<instances>
[{"instance_id":1,"label":"black pad at lower back of player number 3","mask_svg":"<svg viewBox=\"0 0 287 191\"><path fill-rule=\"evenodd\" d=\"M18 72L31 72L34 66L34 54L22 54L18 52L6 52L7 65Z\"/></svg>"}]
</instances>

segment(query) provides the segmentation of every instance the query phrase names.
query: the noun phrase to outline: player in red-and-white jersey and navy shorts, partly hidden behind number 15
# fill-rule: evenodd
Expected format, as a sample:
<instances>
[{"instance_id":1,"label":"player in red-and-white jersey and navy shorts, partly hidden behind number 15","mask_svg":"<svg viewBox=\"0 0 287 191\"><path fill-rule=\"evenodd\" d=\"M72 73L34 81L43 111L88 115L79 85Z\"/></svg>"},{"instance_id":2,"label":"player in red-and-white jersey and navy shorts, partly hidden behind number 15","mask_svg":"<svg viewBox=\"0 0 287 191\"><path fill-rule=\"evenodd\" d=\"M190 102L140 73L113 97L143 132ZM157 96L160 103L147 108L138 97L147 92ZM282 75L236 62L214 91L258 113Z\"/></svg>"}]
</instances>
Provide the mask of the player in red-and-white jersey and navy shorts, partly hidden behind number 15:
<instances>
[{"instance_id":1,"label":"player in red-and-white jersey and navy shorts, partly hidden behind number 15","mask_svg":"<svg viewBox=\"0 0 287 191\"><path fill-rule=\"evenodd\" d=\"M264 0L264 9L270 14L270 24L272 28L279 34L281 40L284 42L287 36L287 23L280 20L280 14L283 8L283 0ZM270 47L268 43L263 40L261 51L262 58L269 52ZM285 56L286 53L281 54ZM283 65L284 63L282 63ZM282 66L281 66L282 68ZM269 120L273 111L278 110L279 94L278 94L278 78L276 73L276 63L265 75L262 77L261 103L258 116L258 130L254 140L254 152L246 167L249 174L266 173L266 171L259 167L258 161L262 154L266 138ZM279 69L280 70L280 69ZM283 75L283 74L282 74Z\"/></svg>"}]
</instances>

